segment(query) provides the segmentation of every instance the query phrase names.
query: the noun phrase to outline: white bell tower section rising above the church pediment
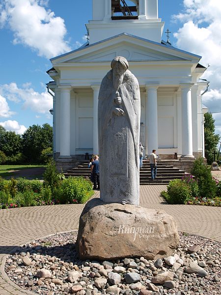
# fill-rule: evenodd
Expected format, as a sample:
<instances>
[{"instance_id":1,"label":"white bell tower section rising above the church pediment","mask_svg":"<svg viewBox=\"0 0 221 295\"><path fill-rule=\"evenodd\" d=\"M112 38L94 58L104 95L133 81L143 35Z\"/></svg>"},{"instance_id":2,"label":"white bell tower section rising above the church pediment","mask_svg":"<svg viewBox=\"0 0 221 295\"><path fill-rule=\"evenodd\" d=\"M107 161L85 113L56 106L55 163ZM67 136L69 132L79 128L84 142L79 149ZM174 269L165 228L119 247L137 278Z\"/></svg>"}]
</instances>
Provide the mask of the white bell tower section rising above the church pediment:
<instances>
[{"instance_id":1,"label":"white bell tower section rising above the church pediment","mask_svg":"<svg viewBox=\"0 0 221 295\"><path fill-rule=\"evenodd\" d=\"M164 22L158 18L158 0L92 1L92 20L86 24L90 44L121 33L161 42Z\"/></svg>"}]
</instances>

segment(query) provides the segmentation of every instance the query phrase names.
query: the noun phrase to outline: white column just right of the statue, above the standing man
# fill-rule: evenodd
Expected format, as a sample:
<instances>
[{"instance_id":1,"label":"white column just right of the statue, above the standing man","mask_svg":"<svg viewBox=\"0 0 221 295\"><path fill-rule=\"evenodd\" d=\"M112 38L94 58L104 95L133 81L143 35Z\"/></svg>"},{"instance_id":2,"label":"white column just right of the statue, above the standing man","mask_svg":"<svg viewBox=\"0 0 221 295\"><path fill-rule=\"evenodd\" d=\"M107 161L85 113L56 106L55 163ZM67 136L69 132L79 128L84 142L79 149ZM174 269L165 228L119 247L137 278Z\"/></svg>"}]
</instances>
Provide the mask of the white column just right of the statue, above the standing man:
<instances>
[{"instance_id":1,"label":"white column just right of the statue, above the standing man","mask_svg":"<svg viewBox=\"0 0 221 295\"><path fill-rule=\"evenodd\" d=\"M158 149L158 114L157 114L157 89L158 84L146 84L146 128L147 151Z\"/></svg>"}]
</instances>

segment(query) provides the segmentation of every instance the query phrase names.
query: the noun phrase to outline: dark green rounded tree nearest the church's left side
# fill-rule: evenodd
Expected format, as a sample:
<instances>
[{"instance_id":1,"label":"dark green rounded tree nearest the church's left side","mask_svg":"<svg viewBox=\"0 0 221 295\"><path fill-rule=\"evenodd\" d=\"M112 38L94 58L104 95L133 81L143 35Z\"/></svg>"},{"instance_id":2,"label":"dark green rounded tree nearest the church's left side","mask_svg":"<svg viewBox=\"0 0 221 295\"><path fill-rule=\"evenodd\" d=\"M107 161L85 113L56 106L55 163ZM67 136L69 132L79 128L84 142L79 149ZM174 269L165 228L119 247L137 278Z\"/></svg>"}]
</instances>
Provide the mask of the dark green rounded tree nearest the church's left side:
<instances>
[{"instance_id":1,"label":"dark green rounded tree nearest the church's left side","mask_svg":"<svg viewBox=\"0 0 221 295\"><path fill-rule=\"evenodd\" d=\"M23 153L28 158L29 163L40 163L42 150L52 148L53 131L52 126L45 123L30 126L22 135Z\"/></svg>"}]
</instances>

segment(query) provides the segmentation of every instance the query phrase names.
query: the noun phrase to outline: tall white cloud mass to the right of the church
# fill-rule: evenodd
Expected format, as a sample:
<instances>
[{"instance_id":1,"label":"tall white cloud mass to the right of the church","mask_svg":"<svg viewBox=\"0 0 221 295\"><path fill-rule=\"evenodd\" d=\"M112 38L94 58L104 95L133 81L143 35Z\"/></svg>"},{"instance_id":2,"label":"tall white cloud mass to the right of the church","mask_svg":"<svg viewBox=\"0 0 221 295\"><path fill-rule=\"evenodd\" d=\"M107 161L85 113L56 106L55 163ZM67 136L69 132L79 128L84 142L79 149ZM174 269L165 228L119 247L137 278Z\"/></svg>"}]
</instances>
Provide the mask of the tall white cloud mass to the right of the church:
<instances>
[{"instance_id":1,"label":"tall white cloud mass to the right of the church","mask_svg":"<svg viewBox=\"0 0 221 295\"><path fill-rule=\"evenodd\" d=\"M183 25L174 33L177 47L202 56L200 63L210 67L202 78L210 81L203 103L211 113L221 112L221 3L220 0L184 0L182 13L173 16ZM214 114L220 133L221 113Z\"/></svg>"}]
</instances>

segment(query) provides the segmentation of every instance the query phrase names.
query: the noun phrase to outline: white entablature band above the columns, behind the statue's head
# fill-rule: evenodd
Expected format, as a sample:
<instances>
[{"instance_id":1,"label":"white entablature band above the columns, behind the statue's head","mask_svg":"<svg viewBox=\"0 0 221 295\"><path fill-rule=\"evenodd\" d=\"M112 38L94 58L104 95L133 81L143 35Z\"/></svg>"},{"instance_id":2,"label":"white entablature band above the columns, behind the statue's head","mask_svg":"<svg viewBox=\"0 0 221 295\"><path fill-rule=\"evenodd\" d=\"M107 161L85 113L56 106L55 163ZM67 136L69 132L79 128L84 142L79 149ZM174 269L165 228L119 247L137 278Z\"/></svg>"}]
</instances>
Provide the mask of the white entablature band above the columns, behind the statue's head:
<instances>
[{"instance_id":1,"label":"white entablature band above the columns, behind the statue's head","mask_svg":"<svg viewBox=\"0 0 221 295\"><path fill-rule=\"evenodd\" d=\"M156 64L139 64L138 62L129 61L131 72L138 78L140 87L145 87L148 83L157 83L160 85L177 86L180 83L191 83L191 72L188 65L156 65ZM73 64L69 70L62 70L60 84L69 84L73 87L81 87L93 84L100 84L103 77L111 69L110 62Z\"/></svg>"}]
</instances>

